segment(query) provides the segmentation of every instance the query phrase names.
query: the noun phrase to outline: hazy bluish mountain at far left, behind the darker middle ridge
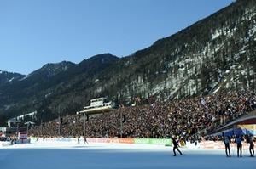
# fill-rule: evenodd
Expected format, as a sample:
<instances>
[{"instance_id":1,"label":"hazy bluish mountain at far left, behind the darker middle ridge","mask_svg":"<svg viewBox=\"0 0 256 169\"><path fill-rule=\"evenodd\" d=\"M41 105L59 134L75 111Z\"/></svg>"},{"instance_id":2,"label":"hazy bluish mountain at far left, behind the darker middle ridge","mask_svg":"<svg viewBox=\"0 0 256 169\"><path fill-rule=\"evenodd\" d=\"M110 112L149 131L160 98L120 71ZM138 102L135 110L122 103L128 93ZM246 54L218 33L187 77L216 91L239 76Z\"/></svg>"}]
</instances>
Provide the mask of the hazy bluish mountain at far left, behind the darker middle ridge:
<instances>
[{"instance_id":1,"label":"hazy bluish mountain at far left, behind the darker middle ridge","mask_svg":"<svg viewBox=\"0 0 256 169\"><path fill-rule=\"evenodd\" d=\"M26 98L34 94L30 88L46 81L51 76L58 75L73 65L73 63L66 61L59 64L47 64L28 76L2 71L0 74L0 110L9 109L9 107L19 103L19 100L29 102Z\"/></svg>"}]
</instances>

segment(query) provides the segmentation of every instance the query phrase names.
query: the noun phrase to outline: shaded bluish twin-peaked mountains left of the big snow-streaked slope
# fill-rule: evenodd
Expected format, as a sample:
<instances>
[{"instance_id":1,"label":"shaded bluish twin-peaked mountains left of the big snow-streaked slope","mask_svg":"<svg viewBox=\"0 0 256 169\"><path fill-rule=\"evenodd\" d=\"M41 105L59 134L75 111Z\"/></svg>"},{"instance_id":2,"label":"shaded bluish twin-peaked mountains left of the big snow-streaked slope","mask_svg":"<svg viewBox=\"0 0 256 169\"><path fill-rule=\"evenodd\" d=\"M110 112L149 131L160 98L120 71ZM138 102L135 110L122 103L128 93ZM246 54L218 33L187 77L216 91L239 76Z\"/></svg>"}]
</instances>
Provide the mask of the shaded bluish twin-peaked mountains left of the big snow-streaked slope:
<instances>
[{"instance_id":1,"label":"shaded bluish twin-peaked mountains left of the big snow-streaked slope","mask_svg":"<svg viewBox=\"0 0 256 169\"><path fill-rule=\"evenodd\" d=\"M62 102L62 98L76 90L84 90L84 87L79 87L81 83L90 84L89 78L94 78L95 74L115 64L118 59L112 54L98 54L78 65L67 61L47 64L28 76L16 76L16 82L1 83L0 115L9 119L35 110L46 114L49 104L69 102ZM80 107L83 108L82 105Z\"/></svg>"}]
</instances>

